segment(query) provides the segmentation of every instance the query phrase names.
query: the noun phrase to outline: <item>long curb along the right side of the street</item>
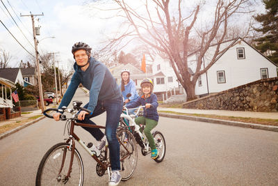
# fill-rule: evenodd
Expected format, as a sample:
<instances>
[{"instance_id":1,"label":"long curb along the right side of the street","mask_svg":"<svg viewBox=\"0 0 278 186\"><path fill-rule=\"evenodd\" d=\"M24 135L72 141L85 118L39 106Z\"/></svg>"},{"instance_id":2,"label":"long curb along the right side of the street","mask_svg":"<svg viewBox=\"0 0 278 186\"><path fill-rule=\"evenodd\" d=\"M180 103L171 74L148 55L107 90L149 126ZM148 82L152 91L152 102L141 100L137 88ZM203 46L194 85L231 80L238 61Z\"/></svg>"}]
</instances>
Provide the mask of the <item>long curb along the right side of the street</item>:
<instances>
[{"instance_id":1,"label":"long curb along the right side of the street","mask_svg":"<svg viewBox=\"0 0 278 186\"><path fill-rule=\"evenodd\" d=\"M222 125L231 125L236 127L248 127L253 129L259 129L259 130L268 130L272 132L278 132L277 126L271 126L271 125L260 125L255 123L243 123L239 121L227 121L227 120L220 120L220 119L213 119L213 118L202 118L202 117L196 117L196 116L183 116L178 114L164 114L164 113L158 113L159 116L168 117L168 118L179 118L179 119L186 119L191 121L202 121L207 123L215 123L215 124L222 124Z\"/></svg>"}]
</instances>

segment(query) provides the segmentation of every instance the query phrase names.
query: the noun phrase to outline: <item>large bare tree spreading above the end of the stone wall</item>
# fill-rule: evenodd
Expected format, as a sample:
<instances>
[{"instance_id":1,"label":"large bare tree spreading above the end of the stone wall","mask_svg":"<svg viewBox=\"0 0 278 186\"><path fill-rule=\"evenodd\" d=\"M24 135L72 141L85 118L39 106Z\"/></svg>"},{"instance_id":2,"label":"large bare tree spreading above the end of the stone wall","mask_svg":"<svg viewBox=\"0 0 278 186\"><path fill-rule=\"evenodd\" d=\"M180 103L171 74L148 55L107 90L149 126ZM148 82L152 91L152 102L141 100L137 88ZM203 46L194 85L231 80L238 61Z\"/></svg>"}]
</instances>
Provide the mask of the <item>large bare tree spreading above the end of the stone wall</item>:
<instances>
[{"instance_id":1,"label":"large bare tree spreading above the end of the stone wall","mask_svg":"<svg viewBox=\"0 0 278 186\"><path fill-rule=\"evenodd\" d=\"M250 13L248 0L215 0L214 5L210 1L213 13L203 18L202 22L199 17L204 13L202 8L207 6L204 3L199 3L190 10L185 7L188 1L182 0L171 1L171 4L170 0L145 0L144 3L140 1L142 3L140 6L138 4L133 6L133 1L129 1L130 3L124 0L113 1L117 3L117 8L113 10L117 10L117 15L124 17L128 26L120 36L111 40L107 47L114 47L124 38L130 38L125 40L124 45L139 39L156 49L158 54L167 56L177 79L186 90L188 100L196 98L195 84L198 77L211 68L217 57L227 50L227 47L220 47L222 43L231 40L230 36L236 38L235 34L227 34L228 24L233 22L231 17L237 13ZM144 12L142 7L145 7ZM209 17L211 22L208 22ZM213 56L203 68L202 59L211 45L215 48ZM194 75L190 75L188 56L194 49L198 49L199 56Z\"/></svg>"}]
</instances>

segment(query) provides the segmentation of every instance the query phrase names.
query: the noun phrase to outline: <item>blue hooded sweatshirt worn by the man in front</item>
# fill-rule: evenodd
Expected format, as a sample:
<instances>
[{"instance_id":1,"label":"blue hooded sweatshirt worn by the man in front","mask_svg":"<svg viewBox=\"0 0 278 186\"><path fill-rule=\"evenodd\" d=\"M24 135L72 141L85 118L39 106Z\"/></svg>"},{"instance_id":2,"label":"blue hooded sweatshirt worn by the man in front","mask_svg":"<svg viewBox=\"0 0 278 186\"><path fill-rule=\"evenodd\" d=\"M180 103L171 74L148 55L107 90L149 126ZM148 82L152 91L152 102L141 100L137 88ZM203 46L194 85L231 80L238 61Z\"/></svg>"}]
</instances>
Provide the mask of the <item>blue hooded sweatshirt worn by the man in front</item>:
<instances>
[{"instance_id":1,"label":"blue hooded sweatshirt worn by the man in front","mask_svg":"<svg viewBox=\"0 0 278 186\"><path fill-rule=\"evenodd\" d=\"M120 87L117 86L115 78L111 75L111 72L106 65L96 61L92 57L90 57L89 63L89 67L85 72L74 63L75 72L72 76L72 81L70 82L70 86L67 88L58 109L63 106L67 107L67 105L70 104L79 84L82 84L90 91L88 109L92 112L95 110L98 100L116 100L122 98Z\"/></svg>"}]
</instances>

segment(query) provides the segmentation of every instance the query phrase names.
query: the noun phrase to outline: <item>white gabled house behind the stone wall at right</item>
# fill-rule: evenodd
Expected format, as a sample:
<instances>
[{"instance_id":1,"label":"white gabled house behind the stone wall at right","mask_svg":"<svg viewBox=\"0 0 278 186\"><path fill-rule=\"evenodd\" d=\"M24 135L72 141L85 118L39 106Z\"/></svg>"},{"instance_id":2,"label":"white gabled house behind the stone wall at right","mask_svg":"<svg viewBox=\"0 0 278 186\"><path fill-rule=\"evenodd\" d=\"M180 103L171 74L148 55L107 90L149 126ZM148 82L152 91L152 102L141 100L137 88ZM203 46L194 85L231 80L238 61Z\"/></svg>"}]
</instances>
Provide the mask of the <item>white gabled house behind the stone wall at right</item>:
<instances>
[{"instance_id":1,"label":"white gabled house behind the stone wall at right","mask_svg":"<svg viewBox=\"0 0 278 186\"><path fill-rule=\"evenodd\" d=\"M234 46L218 56L211 68L199 77L195 86L196 95L218 93L259 79L277 77L277 65L245 40L238 38L232 42L224 43L222 47L227 45ZM214 51L215 47L208 49L203 59L204 66L208 65ZM196 69L197 55L196 52L188 58L188 67L193 72Z\"/></svg>"}]
</instances>

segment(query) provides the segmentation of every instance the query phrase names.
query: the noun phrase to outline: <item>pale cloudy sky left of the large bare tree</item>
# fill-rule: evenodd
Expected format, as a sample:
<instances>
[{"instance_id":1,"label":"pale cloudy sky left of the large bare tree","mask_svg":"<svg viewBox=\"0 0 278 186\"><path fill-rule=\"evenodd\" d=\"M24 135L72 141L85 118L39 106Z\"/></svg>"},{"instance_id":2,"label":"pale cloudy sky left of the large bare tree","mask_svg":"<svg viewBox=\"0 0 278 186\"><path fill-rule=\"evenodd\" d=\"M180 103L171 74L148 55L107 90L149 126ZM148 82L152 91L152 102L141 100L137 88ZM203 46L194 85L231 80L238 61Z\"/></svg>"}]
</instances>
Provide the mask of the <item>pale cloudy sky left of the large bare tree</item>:
<instances>
[{"instance_id":1,"label":"pale cloudy sky left of the large bare tree","mask_svg":"<svg viewBox=\"0 0 278 186\"><path fill-rule=\"evenodd\" d=\"M112 15L109 15L107 11L92 10L88 8L86 2L88 1L0 0L0 20L27 51L35 55L31 17L20 15L30 15L31 13L41 15L43 13L43 16L35 16L35 26L40 26L40 36L36 36L39 41L38 51L40 54L55 52L59 68L66 70L72 66L69 60L74 60L71 48L75 42L83 41L88 43L92 49L99 48L120 28L119 17L101 19L101 17ZM136 1L133 0L133 2ZM10 17L4 5L13 18ZM108 5L101 4L101 6ZM263 10L263 6L257 8L258 12ZM0 49L5 49L12 56L10 67L18 67L21 60L29 61L30 54L19 45L3 24L0 23Z\"/></svg>"}]
</instances>

